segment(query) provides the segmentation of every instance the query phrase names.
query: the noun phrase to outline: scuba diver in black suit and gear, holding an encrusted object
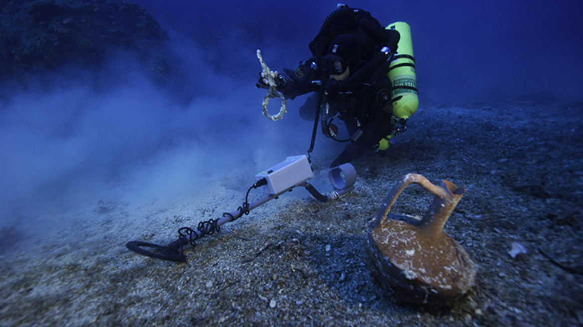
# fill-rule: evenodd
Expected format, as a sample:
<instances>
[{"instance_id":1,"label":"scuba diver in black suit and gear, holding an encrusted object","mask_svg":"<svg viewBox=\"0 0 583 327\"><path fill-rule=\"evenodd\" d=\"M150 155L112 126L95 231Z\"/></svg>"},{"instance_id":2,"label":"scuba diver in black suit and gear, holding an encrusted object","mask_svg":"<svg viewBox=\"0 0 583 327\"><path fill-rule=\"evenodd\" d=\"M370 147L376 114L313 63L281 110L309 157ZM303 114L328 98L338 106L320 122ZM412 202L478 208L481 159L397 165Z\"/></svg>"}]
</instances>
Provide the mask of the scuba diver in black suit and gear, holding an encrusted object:
<instances>
[{"instance_id":1,"label":"scuba diver in black suit and gear, holding an encrusted object","mask_svg":"<svg viewBox=\"0 0 583 327\"><path fill-rule=\"evenodd\" d=\"M388 72L395 61L401 35L389 27L385 29L365 10L339 5L310 42L311 58L300 62L296 70L275 72L276 90L285 98L314 92L300 109L304 117L307 110L317 111L312 114L316 119L314 133L319 120L325 136L348 142L331 168L360 158L366 152L384 154L390 138L405 130L406 119L417 109L415 106L409 114L394 115L393 107L399 98L395 98L395 86ZM413 66L409 69L413 70L415 79L410 52L409 61ZM256 85L269 87L263 73ZM405 89L414 91L416 99L416 82L414 87ZM349 138L339 140L338 127L334 124L337 118L345 123ZM312 147L314 137L315 134Z\"/></svg>"}]
</instances>

